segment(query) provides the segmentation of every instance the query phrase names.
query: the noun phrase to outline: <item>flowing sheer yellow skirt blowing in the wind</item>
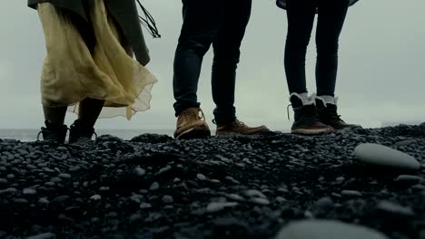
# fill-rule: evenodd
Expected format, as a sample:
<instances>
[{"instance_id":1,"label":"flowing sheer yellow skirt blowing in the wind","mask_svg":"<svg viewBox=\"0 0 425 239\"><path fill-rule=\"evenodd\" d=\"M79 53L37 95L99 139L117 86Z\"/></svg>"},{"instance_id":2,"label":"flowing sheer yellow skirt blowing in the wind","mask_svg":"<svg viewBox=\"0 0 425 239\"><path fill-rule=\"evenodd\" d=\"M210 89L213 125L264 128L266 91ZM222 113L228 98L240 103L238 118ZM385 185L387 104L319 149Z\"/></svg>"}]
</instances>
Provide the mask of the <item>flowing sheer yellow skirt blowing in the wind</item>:
<instances>
[{"instance_id":1,"label":"flowing sheer yellow skirt blowing in the wind","mask_svg":"<svg viewBox=\"0 0 425 239\"><path fill-rule=\"evenodd\" d=\"M91 12L96 39L93 54L60 9L40 4L38 14L47 50L41 78L44 106L67 106L77 112L81 100L105 100L101 118L122 115L127 119L150 108L157 80L124 49L104 0L94 0Z\"/></svg>"}]
</instances>

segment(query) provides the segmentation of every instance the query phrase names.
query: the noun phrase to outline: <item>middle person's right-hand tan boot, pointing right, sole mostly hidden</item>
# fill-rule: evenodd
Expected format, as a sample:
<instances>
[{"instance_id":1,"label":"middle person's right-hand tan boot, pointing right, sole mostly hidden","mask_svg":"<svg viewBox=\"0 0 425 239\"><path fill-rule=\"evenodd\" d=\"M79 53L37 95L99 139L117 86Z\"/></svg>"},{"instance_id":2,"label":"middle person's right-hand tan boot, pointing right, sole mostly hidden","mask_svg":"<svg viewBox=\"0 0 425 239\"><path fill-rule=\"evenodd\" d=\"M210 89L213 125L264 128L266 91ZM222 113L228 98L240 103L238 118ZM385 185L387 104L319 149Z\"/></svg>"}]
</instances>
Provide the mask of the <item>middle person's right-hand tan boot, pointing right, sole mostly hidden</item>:
<instances>
[{"instance_id":1,"label":"middle person's right-hand tan boot, pointing right, sole mostly hidden","mask_svg":"<svg viewBox=\"0 0 425 239\"><path fill-rule=\"evenodd\" d=\"M235 119L232 123L226 125L217 125L216 135L255 135L262 132L269 131L266 126L249 127L242 121Z\"/></svg>"}]
</instances>

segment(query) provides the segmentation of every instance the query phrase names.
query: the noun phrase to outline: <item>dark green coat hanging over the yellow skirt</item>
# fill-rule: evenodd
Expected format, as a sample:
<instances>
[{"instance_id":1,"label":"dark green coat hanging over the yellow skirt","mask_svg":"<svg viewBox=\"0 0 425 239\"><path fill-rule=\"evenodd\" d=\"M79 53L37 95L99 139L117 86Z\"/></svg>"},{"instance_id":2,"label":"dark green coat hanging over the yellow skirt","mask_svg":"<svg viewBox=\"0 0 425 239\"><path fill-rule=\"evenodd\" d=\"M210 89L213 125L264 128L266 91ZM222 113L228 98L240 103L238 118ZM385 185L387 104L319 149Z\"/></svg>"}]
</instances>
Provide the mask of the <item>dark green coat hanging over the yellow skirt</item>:
<instances>
[{"instance_id":1,"label":"dark green coat hanging over the yellow skirt","mask_svg":"<svg viewBox=\"0 0 425 239\"><path fill-rule=\"evenodd\" d=\"M57 7L69 9L87 20L83 1L93 3L93 0L28 0L28 6L36 8L38 4L51 3ZM104 0L104 4L132 46L137 61L146 65L150 62L149 50L144 41L135 0Z\"/></svg>"}]
</instances>

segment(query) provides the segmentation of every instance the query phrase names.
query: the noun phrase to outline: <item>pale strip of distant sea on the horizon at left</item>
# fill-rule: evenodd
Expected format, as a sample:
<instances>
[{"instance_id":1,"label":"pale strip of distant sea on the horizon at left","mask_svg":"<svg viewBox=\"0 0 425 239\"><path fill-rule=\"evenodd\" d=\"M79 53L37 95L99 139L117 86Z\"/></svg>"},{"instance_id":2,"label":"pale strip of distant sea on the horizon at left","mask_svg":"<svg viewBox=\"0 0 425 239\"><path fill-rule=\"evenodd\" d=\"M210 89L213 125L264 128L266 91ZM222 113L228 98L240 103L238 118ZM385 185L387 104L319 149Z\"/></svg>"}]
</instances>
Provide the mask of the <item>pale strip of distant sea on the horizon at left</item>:
<instances>
[{"instance_id":1,"label":"pale strip of distant sea on the horizon at left","mask_svg":"<svg viewBox=\"0 0 425 239\"><path fill-rule=\"evenodd\" d=\"M0 139L35 141L40 129L0 129ZM173 136L173 129L96 129L97 136L113 135L121 139L133 139L141 134L154 133Z\"/></svg>"}]
</instances>

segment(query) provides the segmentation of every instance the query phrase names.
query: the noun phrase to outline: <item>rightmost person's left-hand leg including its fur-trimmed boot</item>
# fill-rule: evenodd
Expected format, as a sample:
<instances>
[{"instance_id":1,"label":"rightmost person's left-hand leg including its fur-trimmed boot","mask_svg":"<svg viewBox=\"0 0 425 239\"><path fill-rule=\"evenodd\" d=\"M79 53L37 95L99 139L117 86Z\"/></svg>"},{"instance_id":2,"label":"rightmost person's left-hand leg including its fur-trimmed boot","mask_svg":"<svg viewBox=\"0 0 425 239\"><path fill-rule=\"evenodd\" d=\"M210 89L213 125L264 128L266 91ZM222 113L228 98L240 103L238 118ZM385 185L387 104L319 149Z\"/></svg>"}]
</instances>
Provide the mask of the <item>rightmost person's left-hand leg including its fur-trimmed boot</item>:
<instances>
[{"instance_id":1,"label":"rightmost person's left-hand leg including its fur-trimmed boot","mask_svg":"<svg viewBox=\"0 0 425 239\"><path fill-rule=\"evenodd\" d=\"M288 0L288 35L285 46L285 72L294 111L291 132L317 135L330 132L331 127L317 118L314 102L308 97L305 76L305 55L310 42L316 14L315 0Z\"/></svg>"}]
</instances>

